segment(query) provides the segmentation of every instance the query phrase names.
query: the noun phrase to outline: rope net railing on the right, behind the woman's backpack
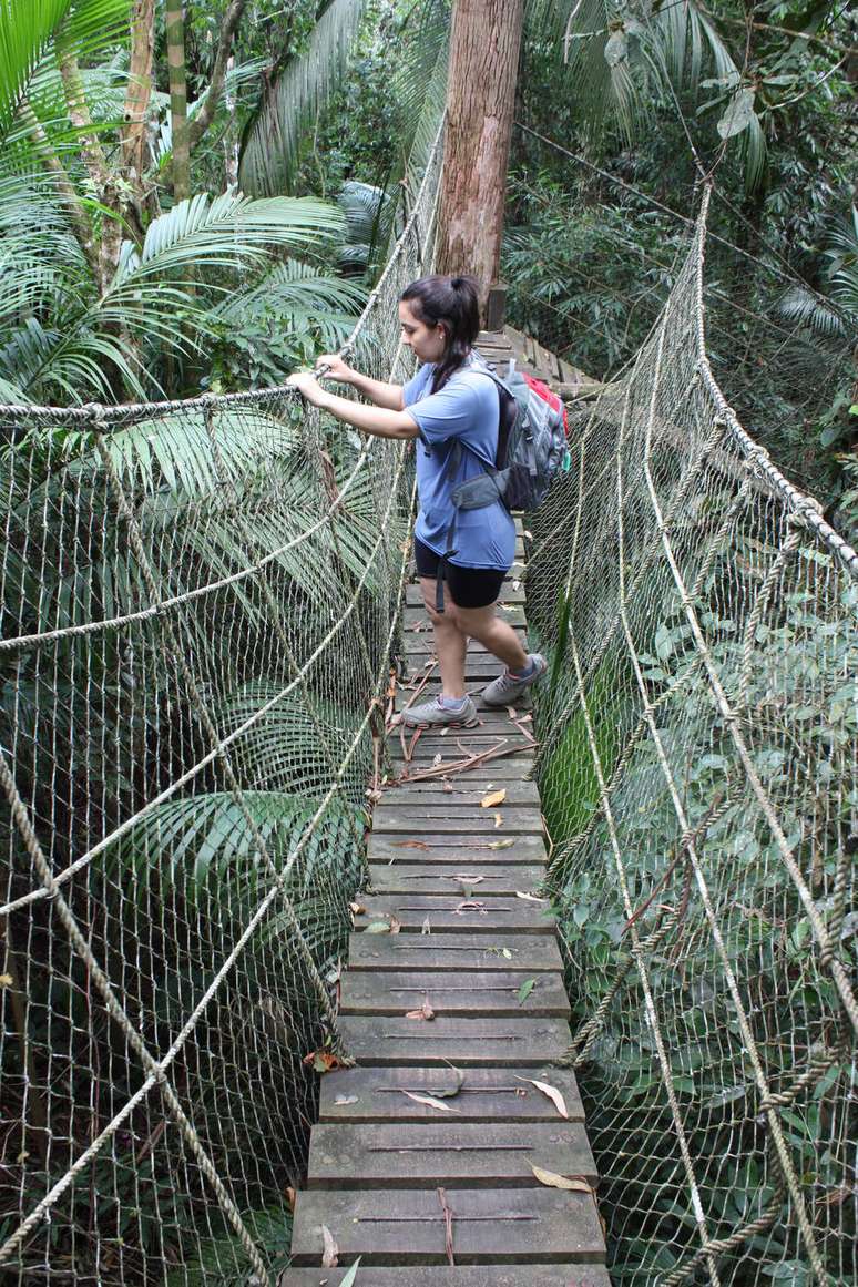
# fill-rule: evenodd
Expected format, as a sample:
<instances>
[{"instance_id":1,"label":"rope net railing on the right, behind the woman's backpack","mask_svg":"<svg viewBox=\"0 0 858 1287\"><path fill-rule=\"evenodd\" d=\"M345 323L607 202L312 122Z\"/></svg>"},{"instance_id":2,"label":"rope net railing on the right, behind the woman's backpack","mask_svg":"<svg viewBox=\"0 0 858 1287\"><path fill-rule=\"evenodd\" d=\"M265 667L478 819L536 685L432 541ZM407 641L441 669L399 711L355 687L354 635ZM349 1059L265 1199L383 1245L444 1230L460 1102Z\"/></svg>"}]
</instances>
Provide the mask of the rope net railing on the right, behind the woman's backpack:
<instances>
[{"instance_id":1,"label":"rope net railing on the right, behind the woman's backpack","mask_svg":"<svg viewBox=\"0 0 858 1287\"><path fill-rule=\"evenodd\" d=\"M706 206L529 520L570 1062L617 1284L855 1281L858 556L741 427Z\"/></svg>"}]
</instances>

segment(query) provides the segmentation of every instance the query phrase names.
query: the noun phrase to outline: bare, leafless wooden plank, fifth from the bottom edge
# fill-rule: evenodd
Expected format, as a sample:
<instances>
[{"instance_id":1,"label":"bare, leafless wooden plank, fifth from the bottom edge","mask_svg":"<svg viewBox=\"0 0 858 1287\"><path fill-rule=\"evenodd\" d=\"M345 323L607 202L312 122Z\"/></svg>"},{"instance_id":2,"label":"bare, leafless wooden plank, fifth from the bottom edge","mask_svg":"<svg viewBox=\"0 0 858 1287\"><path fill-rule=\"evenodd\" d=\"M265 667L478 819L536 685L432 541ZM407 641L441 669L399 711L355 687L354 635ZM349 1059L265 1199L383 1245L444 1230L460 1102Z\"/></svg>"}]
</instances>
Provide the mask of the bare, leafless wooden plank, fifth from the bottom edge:
<instances>
[{"instance_id":1,"label":"bare, leafless wooden plank, fifth from the bottom edge","mask_svg":"<svg viewBox=\"0 0 858 1287\"><path fill-rule=\"evenodd\" d=\"M430 1064L543 1064L562 1059L570 1044L565 1019L481 1018L443 1014L431 1023L395 1015L343 1014L340 1031L346 1050L368 1067Z\"/></svg>"}]
</instances>

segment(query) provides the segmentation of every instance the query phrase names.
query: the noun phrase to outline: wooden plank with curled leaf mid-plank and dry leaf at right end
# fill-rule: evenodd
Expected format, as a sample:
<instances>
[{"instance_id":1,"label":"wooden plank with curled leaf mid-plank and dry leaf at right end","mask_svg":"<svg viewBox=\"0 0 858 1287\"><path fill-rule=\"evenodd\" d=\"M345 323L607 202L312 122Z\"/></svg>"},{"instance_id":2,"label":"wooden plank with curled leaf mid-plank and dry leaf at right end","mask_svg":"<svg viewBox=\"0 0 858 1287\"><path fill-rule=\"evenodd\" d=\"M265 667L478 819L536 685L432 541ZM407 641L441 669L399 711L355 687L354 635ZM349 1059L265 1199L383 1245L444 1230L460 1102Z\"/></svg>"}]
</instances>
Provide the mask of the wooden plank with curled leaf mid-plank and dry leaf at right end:
<instances>
[{"instance_id":1,"label":"wooden plank with curled leaf mid-plank and dry leaf at right end","mask_svg":"<svg viewBox=\"0 0 858 1287\"><path fill-rule=\"evenodd\" d=\"M584 1107L569 1068L337 1068L322 1079L319 1120L323 1122L436 1121L437 1109L418 1095L446 1094L457 1121L562 1121L557 1108L529 1080L544 1081L563 1097L570 1121L584 1121ZM338 1103L338 1100L341 1100Z\"/></svg>"}]
</instances>

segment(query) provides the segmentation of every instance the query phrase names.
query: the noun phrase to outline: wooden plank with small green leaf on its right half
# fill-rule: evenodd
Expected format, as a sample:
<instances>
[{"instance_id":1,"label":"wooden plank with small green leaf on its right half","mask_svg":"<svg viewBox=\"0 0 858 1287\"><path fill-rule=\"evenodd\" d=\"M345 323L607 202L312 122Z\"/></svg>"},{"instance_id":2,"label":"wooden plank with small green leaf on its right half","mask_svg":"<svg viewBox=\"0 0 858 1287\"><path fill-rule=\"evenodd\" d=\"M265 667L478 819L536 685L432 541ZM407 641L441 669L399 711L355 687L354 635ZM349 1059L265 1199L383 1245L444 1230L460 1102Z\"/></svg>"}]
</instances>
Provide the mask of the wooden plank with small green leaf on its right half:
<instances>
[{"instance_id":1,"label":"wooden plank with small green leaf on its right half","mask_svg":"<svg viewBox=\"0 0 858 1287\"><path fill-rule=\"evenodd\" d=\"M520 988L525 985L530 992L520 1001ZM435 1014L470 1018L554 1014L569 1019L571 1015L560 972L530 974L526 965L515 970L462 970L455 976L444 972L422 977L417 970L346 970L342 976L341 1014L401 1015L424 1003Z\"/></svg>"}]
</instances>

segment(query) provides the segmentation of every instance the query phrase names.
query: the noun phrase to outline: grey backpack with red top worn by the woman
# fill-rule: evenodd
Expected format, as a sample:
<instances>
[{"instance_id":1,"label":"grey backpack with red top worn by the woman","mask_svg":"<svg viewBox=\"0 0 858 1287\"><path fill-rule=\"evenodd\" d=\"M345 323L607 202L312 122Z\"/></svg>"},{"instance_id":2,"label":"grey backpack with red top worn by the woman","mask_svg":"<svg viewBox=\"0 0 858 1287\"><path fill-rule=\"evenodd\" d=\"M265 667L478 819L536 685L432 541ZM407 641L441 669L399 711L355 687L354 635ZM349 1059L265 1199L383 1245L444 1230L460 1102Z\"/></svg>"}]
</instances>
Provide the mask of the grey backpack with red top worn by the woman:
<instances>
[{"instance_id":1,"label":"grey backpack with red top worn by the woman","mask_svg":"<svg viewBox=\"0 0 858 1287\"><path fill-rule=\"evenodd\" d=\"M506 376L498 376L485 359L473 353L471 369L494 381L498 390L499 421L495 463L484 465L484 472L459 483L450 493L454 514L446 537L436 589L436 610L444 611L441 580L444 565L458 551L453 547L455 517L459 510L482 510L500 499L507 510L535 510L561 468L569 468L569 416L562 402L548 385L516 371L509 360ZM462 459L457 440L450 452L446 475L453 477Z\"/></svg>"}]
</instances>

